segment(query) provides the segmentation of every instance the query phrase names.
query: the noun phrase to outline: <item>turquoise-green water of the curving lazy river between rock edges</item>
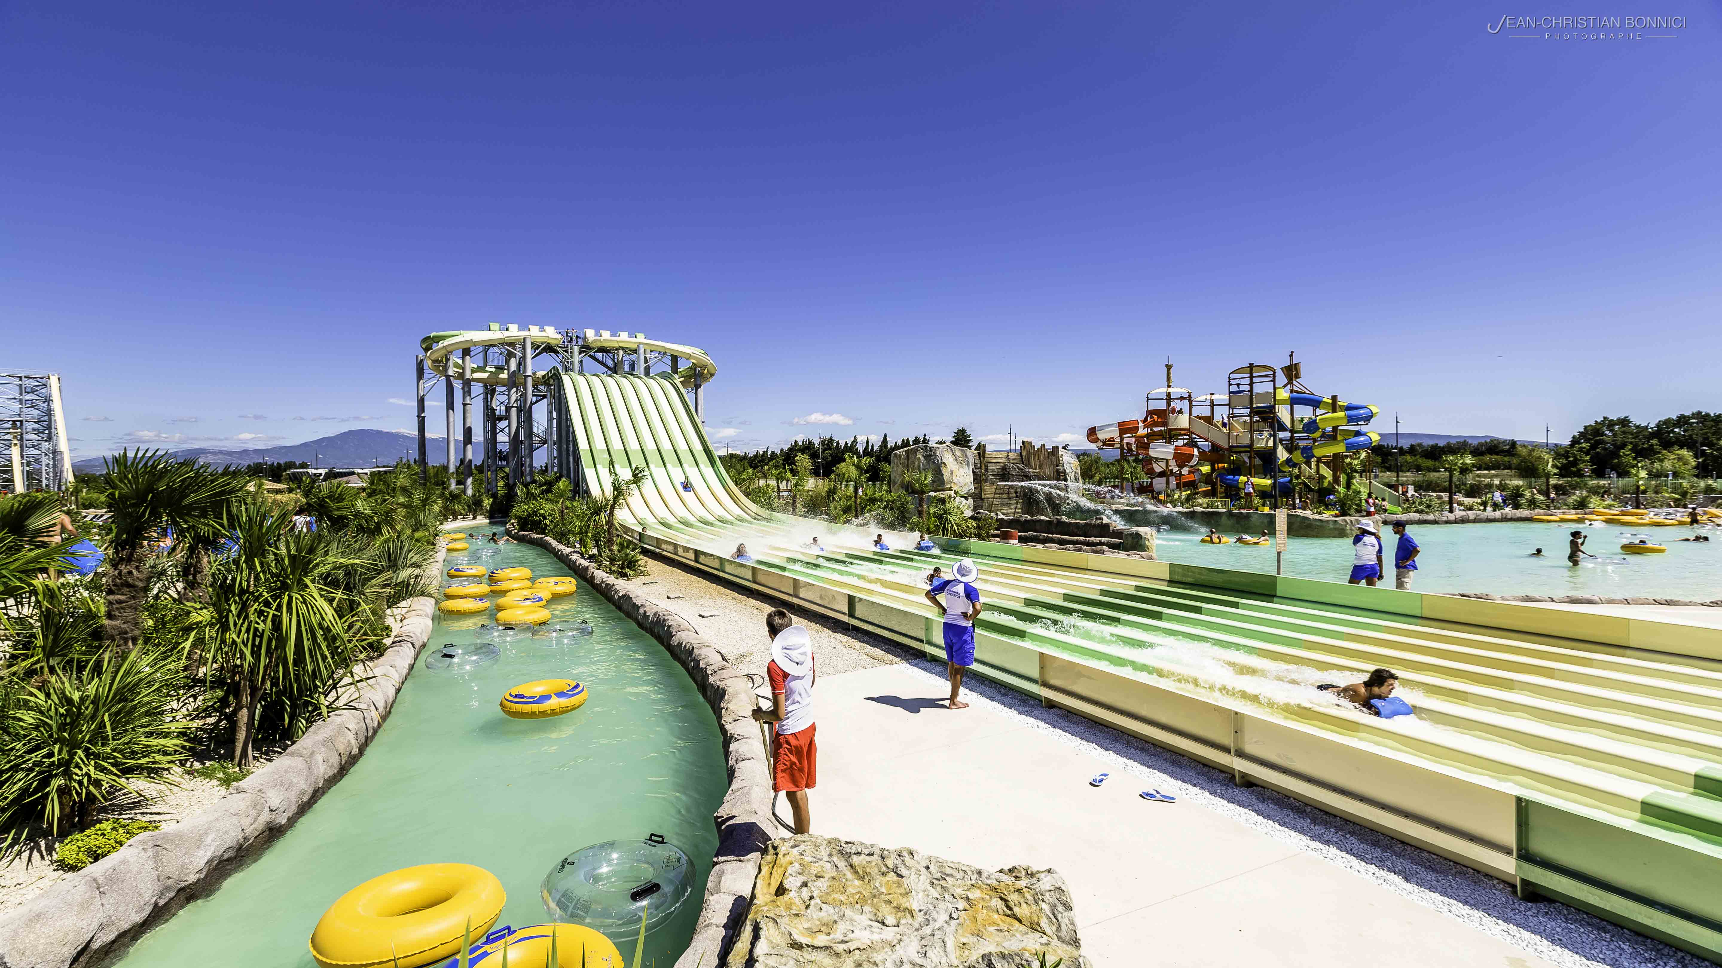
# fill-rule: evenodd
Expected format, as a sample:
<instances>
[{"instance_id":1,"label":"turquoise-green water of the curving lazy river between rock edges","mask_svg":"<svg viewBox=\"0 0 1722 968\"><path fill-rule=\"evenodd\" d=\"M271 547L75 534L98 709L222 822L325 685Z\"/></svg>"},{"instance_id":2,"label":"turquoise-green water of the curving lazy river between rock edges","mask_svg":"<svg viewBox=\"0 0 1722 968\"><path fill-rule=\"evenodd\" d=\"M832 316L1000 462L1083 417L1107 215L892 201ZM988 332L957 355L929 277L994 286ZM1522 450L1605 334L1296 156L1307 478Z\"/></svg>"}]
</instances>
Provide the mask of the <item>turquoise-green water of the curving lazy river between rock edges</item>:
<instances>
[{"instance_id":1,"label":"turquoise-green water of the curving lazy river between rock edges","mask_svg":"<svg viewBox=\"0 0 1722 968\"><path fill-rule=\"evenodd\" d=\"M461 563L477 562L455 553L446 567ZM505 544L482 563L568 574L525 544ZM313 968L307 942L336 897L420 863L489 870L508 892L498 925L539 925L549 920L539 882L556 861L647 834L680 846L699 872L692 897L646 940L647 966L673 965L692 937L716 849L711 815L728 787L716 720L663 646L584 586L553 599L551 613L594 632L572 648L498 642L501 658L465 677L427 670L434 649L425 648L351 772L269 851L145 935L119 965ZM430 646L470 642L489 620L439 615ZM551 677L580 680L591 699L548 720L498 711L508 687ZM634 958L632 944L623 956Z\"/></svg>"}]
</instances>

